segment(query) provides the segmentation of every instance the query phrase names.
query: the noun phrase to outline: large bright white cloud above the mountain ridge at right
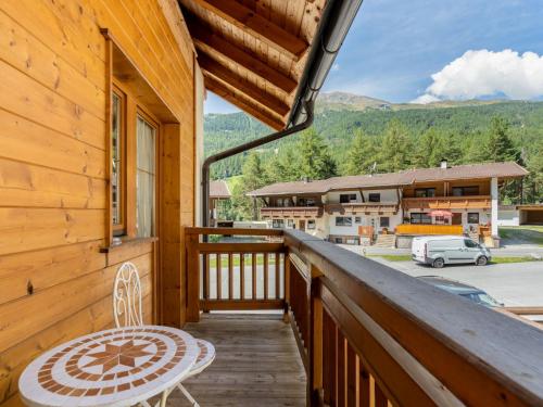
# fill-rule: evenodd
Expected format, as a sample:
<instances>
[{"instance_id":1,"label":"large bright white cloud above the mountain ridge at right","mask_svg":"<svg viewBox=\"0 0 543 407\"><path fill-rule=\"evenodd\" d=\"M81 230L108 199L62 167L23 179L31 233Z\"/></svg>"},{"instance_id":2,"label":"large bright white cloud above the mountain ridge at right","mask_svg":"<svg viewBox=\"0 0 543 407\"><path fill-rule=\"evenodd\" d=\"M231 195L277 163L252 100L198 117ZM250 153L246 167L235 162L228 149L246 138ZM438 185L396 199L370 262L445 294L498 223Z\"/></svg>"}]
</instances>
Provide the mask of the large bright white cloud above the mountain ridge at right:
<instances>
[{"instance_id":1,"label":"large bright white cloud above the mountain ridge at right","mask_svg":"<svg viewBox=\"0 0 543 407\"><path fill-rule=\"evenodd\" d=\"M534 99L543 96L543 55L470 50L433 74L432 79L427 93L416 100L430 97L464 100L495 94Z\"/></svg>"}]
</instances>

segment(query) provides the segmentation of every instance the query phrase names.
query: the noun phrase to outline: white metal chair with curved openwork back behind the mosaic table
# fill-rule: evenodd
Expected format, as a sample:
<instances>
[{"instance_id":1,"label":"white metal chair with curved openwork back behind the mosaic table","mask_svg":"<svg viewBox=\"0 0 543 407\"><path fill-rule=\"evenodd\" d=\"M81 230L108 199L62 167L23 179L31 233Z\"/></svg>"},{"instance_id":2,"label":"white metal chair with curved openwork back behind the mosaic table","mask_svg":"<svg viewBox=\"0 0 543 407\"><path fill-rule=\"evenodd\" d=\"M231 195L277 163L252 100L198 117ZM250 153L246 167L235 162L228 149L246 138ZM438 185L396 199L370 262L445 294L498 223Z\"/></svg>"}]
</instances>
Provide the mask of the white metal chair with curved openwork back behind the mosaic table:
<instances>
[{"instance_id":1,"label":"white metal chair with curved openwork back behind the mosaic table","mask_svg":"<svg viewBox=\"0 0 543 407\"><path fill-rule=\"evenodd\" d=\"M137 267L130 263L124 263L117 270L115 283L113 285L113 315L115 318L115 327L132 327L143 325L143 313L141 310L141 282ZM215 359L215 347L207 341L197 339L200 353L194 366L190 369L189 374L184 378L190 378L200 373ZM162 405L165 405L166 397L175 390L179 389L187 399L194 406L199 407L197 400L190 395L187 389L177 383L169 391L164 392L162 396ZM155 406L161 405L157 403ZM149 403L141 403L144 407L150 407Z\"/></svg>"}]
</instances>

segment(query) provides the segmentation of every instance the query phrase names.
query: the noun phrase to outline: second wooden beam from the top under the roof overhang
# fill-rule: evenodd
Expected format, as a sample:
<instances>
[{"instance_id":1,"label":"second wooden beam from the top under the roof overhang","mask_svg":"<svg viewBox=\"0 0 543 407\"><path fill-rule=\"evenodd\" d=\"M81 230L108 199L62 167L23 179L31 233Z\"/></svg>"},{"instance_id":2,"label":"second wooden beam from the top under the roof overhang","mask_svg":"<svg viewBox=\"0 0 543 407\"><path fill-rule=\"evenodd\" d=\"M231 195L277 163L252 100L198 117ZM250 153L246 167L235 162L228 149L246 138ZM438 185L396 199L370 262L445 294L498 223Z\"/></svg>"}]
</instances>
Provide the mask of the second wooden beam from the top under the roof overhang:
<instances>
[{"instance_id":1,"label":"second wooden beam from the top under the roof overhang","mask_svg":"<svg viewBox=\"0 0 543 407\"><path fill-rule=\"evenodd\" d=\"M209 28L204 28L201 23L195 22L193 18L188 20L188 22L194 44L201 53L210 55L218 54L226 58L289 94L296 88L298 82L291 77L272 68L235 43L213 34Z\"/></svg>"}]
</instances>

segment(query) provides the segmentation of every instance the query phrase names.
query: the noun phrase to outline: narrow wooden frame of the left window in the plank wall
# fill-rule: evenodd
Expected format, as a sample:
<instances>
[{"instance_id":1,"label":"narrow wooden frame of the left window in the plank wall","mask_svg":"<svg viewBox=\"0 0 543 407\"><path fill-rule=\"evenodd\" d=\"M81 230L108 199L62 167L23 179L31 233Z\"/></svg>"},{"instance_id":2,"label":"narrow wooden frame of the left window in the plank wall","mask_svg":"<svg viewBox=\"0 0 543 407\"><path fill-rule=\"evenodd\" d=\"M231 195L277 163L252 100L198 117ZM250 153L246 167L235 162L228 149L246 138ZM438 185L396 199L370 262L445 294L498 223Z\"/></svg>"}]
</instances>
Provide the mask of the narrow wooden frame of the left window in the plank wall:
<instances>
[{"instance_id":1,"label":"narrow wooden frame of the left window in the plank wall","mask_svg":"<svg viewBox=\"0 0 543 407\"><path fill-rule=\"evenodd\" d=\"M111 165L111 177L113 177L113 96L118 98L119 100L119 106L121 106L121 112L119 112L119 139L121 139L121 177L119 177L119 182L121 182L121 188L118 189L119 198L121 198L121 205L118 206L119 209L119 218L121 221L117 224L113 222L113 186L110 188L110 200L111 200L111 215L110 215L110 220L112 224L112 231L114 237L122 237L127 234L127 173L128 173L128 166L127 166L127 96L126 93L116 85L112 84L112 89L111 89L111 96L110 96L110 103L111 103L111 133L112 137L110 139L110 145L109 149L111 151L110 155L110 165Z\"/></svg>"}]
</instances>

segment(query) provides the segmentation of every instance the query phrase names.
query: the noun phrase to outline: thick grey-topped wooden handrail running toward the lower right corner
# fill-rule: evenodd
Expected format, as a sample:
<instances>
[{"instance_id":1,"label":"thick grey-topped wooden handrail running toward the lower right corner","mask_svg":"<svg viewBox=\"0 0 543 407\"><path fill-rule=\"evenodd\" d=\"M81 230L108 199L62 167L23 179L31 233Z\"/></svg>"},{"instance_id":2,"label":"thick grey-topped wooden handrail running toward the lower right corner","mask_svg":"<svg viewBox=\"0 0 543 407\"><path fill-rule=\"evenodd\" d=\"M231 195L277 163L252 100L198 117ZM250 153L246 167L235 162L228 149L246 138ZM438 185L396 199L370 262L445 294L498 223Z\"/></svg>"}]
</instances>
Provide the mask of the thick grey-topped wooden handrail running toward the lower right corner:
<instances>
[{"instance_id":1,"label":"thick grey-topped wooden handrail running toward the lower right corner","mask_svg":"<svg viewBox=\"0 0 543 407\"><path fill-rule=\"evenodd\" d=\"M324 319L331 318L346 339L345 352L365 359L393 404L543 405L543 361L535 361L543 360L540 330L303 232L285 231L285 244L321 274L311 302L321 303ZM321 325L323 317L312 323ZM326 360L323 338L312 342L321 353L317 359ZM326 400L323 370L310 378L314 392L325 387ZM407 378L399 380L402 371Z\"/></svg>"}]
</instances>

